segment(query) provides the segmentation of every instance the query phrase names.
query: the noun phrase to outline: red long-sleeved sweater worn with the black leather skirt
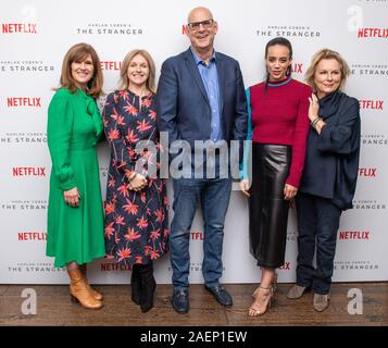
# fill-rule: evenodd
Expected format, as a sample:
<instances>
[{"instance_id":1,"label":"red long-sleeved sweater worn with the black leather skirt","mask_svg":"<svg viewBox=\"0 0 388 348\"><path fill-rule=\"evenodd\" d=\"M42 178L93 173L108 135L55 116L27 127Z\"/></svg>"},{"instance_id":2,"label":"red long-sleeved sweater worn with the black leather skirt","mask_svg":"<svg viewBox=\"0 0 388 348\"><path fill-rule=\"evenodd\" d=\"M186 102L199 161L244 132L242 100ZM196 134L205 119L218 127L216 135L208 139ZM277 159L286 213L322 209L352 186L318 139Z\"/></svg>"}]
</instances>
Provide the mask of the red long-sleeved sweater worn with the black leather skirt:
<instances>
[{"instance_id":1,"label":"red long-sleeved sweater worn with the black leather skirt","mask_svg":"<svg viewBox=\"0 0 388 348\"><path fill-rule=\"evenodd\" d=\"M309 133L310 86L295 79L265 83L250 90L252 141L292 147L291 167L286 183L299 187Z\"/></svg>"}]
</instances>

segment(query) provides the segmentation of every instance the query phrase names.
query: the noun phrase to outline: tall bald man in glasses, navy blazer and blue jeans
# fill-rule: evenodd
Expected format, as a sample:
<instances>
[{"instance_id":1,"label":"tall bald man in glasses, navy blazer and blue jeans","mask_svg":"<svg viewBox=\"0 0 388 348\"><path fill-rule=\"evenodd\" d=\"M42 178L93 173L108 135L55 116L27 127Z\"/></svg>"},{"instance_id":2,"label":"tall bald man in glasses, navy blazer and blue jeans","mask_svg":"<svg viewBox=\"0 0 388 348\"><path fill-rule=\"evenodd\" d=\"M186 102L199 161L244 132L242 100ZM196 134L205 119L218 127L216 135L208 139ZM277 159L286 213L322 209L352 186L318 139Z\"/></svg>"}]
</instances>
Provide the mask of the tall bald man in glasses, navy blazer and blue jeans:
<instances>
[{"instance_id":1,"label":"tall bald man in glasses, navy blazer and blue jeans","mask_svg":"<svg viewBox=\"0 0 388 348\"><path fill-rule=\"evenodd\" d=\"M186 32L191 45L188 50L163 63L157 98L158 127L168 135L171 175L174 169L174 219L170 247L174 285L172 304L178 313L189 311L189 240L199 203L204 220L204 285L221 304L233 306L230 295L220 284L224 222L231 190L228 150L230 140L238 140L238 160L241 161L248 117L238 62L214 51L218 24L210 10L191 10ZM179 144L179 140L180 144L182 140L187 141L189 150L185 148L175 153L172 146ZM213 151L200 162L191 160L180 163L178 167L182 171L174 167L174 163L179 163L179 156L183 159L185 154L195 158L195 149L201 144L198 140L213 145Z\"/></svg>"}]
</instances>

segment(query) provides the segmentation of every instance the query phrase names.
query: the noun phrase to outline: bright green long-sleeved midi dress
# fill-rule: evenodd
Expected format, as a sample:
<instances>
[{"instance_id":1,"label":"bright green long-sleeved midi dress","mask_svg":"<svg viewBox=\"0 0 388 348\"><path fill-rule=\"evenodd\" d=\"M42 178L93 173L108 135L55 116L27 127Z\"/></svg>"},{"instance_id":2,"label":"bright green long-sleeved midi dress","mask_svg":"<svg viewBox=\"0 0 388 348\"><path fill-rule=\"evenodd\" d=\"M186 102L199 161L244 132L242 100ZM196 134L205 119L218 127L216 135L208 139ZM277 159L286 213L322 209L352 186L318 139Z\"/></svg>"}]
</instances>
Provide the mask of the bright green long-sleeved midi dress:
<instances>
[{"instance_id":1,"label":"bright green long-sleeved midi dress","mask_svg":"<svg viewBox=\"0 0 388 348\"><path fill-rule=\"evenodd\" d=\"M48 146L52 169L46 254L54 266L78 264L105 254L103 209L96 145L103 125L95 100L83 90L61 88L48 111ZM77 187L78 208L64 201L63 191Z\"/></svg>"}]
</instances>

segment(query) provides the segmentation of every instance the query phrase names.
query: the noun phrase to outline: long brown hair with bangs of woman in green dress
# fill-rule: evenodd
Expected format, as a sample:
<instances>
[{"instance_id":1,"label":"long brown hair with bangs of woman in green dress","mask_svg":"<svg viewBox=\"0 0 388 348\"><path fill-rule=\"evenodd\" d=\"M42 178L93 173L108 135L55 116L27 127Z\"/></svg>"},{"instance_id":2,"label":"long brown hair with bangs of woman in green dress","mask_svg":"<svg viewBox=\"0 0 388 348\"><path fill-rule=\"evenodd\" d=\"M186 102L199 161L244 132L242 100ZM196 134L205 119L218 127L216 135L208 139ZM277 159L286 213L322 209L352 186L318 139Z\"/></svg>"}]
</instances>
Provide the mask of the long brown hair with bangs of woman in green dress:
<instances>
[{"instance_id":1,"label":"long brown hair with bangs of woman in green dress","mask_svg":"<svg viewBox=\"0 0 388 348\"><path fill-rule=\"evenodd\" d=\"M77 86L72 75L72 63L82 62L88 57L88 54L91 57L95 69L93 76L88 83L88 90L86 92L96 99L102 94L103 76L100 59L98 58L96 50L88 44L82 42L74 45L67 51L62 63L60 85L72 92L76 90Z\"/></svg>"}]
</instances>

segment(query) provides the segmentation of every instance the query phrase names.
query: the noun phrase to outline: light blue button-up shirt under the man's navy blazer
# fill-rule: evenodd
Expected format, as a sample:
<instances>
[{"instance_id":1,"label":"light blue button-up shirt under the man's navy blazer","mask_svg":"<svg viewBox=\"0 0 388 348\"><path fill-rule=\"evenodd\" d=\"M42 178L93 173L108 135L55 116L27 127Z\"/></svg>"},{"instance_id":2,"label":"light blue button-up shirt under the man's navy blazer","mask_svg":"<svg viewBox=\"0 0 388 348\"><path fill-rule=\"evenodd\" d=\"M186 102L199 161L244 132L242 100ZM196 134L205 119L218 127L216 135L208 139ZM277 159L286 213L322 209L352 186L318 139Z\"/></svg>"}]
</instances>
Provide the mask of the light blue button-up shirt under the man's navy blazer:
<instances>
[{"instance_id":1,"label":"light blue button-up shirt under the man's navy blazer","mask_svg":"<svg viewBox=\"0 0 388 348\"><path fill-rule=\"evenodd\" d=\"M208 99L211 109L211 140L217 141L224 139L221 125L221 103L220 103L220 85L218 73L216 66L215 52L209 61L209 65L202 61L192 50L192 55L196 60L198 71L201 75L204 89L208 94Z\"/></svg>"}]
</instances>

